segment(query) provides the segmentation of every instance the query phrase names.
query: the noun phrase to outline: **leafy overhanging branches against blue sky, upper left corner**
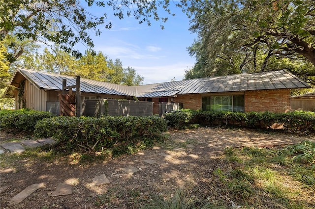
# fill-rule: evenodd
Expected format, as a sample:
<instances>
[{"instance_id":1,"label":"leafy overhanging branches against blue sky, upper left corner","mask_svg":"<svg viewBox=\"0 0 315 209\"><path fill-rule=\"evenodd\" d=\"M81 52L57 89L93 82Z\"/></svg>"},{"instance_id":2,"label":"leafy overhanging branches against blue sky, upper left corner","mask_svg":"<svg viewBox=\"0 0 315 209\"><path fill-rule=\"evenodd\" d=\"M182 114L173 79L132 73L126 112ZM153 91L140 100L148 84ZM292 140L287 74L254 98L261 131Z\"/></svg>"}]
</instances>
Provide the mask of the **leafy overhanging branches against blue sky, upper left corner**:
<instances>
[{"instance_id":1,"label":"leafy overhanging branches against blue sky, upper left corner","mask_svg":"<svg viewBox=\"0 0 315 209\"><path fill-rule=\"evenodd\" d=\"M94 30L96 35L100 35L98 26L111 28L107 14L95 17L84 8L85 4L88 7L111 7L114 16L119 19L132 16L139 24L147 22L151 25L150 21L154 19L160 21L162 28L167 18L158 15L158 7L170 14L169 0L85 0L83 4L77 0L0 0L0 41L12 35L19 41L55 43L65 52L80 57L82 54L74 50L77 43L93 48L89 32ZM8 46L17 48L18 43L12 40ZM20 47L16 53L8 53L9 64L24 52Z\"/></svg>"}]
</instances>

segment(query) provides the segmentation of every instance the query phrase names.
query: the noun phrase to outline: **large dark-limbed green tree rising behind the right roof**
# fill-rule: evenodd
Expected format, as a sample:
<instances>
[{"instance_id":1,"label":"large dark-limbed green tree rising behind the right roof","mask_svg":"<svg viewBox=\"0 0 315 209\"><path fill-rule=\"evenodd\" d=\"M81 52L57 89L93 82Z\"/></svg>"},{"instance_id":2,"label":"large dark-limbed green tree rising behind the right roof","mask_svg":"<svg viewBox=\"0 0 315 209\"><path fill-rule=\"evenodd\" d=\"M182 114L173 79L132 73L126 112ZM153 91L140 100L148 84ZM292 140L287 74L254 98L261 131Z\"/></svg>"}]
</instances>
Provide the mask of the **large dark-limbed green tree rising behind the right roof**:
<instances>
[{"instance_id":1,"label":"large dark-limbed green tree rising behind the right roof","mask_svg":"<svg viewBox=\"0 0 315 209\"><path fill-rule=\"evenodd\" d=\"M186 78L288 69L315 84L315 1L192 1ZM297 66L303 70L296 70ZM295 69L295 70L294 70Z\"/></svg>"}]
</instances>

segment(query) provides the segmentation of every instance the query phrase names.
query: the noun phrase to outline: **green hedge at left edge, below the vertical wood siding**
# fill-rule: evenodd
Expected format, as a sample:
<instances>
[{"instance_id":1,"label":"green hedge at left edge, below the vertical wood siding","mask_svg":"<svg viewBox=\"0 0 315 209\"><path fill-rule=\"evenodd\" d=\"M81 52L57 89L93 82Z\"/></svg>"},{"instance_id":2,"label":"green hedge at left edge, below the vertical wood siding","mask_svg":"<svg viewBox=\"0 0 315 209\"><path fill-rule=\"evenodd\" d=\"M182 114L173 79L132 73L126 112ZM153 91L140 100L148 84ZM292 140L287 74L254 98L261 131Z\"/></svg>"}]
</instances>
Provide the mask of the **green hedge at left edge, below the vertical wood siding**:
<instances>
[{"instance_id":1,"label":"green hedge at left edge, below the vertical wood siding","mask_svg":"<svg viewBox=\"0 0 315 209\"><path fill-rule=\"evenodd\" d=\"M0 110L0 126L11 131L34 131L37 121L53 116L50 112L30 109Z\"/></svg>"}]
</instances>

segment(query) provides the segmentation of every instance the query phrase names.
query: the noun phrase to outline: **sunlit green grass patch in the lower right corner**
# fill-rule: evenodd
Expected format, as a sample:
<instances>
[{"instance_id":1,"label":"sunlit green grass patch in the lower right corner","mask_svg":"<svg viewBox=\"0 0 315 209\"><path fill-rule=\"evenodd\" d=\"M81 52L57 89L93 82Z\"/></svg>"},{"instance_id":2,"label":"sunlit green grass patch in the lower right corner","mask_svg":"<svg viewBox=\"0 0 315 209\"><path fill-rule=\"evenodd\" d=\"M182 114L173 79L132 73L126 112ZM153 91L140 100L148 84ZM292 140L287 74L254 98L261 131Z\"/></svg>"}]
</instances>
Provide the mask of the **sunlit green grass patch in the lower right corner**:
<instances>
[{"instance_id":1,"label":"sunlit green grass patch in the lower right corner","mask_svg":"<svg viewBox=\"0 0 315 209\"><path fill-rule=\"evenodd\" d=\"M214 171L223 194L245 208L314 208L315 143L282 148L227 148ZM236 160L237 159L237 160ZM235 167L235 162L244 166Z\"/></svg>"}]
</instances>

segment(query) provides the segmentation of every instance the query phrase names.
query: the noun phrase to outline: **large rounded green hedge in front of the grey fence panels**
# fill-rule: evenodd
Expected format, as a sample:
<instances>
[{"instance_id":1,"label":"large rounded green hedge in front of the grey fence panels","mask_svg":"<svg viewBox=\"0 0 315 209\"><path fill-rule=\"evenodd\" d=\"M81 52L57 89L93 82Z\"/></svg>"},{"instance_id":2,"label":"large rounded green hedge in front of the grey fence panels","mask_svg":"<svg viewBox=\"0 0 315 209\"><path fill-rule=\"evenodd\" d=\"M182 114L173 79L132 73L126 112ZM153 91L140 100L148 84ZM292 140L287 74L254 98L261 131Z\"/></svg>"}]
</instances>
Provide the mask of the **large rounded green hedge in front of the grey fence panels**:
<instances>
[{"instance_id":1,"label":"large rounded green hedge in front of the grey fence panels","mask_svg":"<svg viewBox=\"0 0 315 209\"><path fill-rule=\"evenodd\" d=\"M167 121L157 116L52 117L39 121L35 136L53 137L67 150L102 151L153 143L166 131ZM125 148L124 148L125 147ZM127 152L127 151L124 151Z\"/></svg>"}]
</instances>

